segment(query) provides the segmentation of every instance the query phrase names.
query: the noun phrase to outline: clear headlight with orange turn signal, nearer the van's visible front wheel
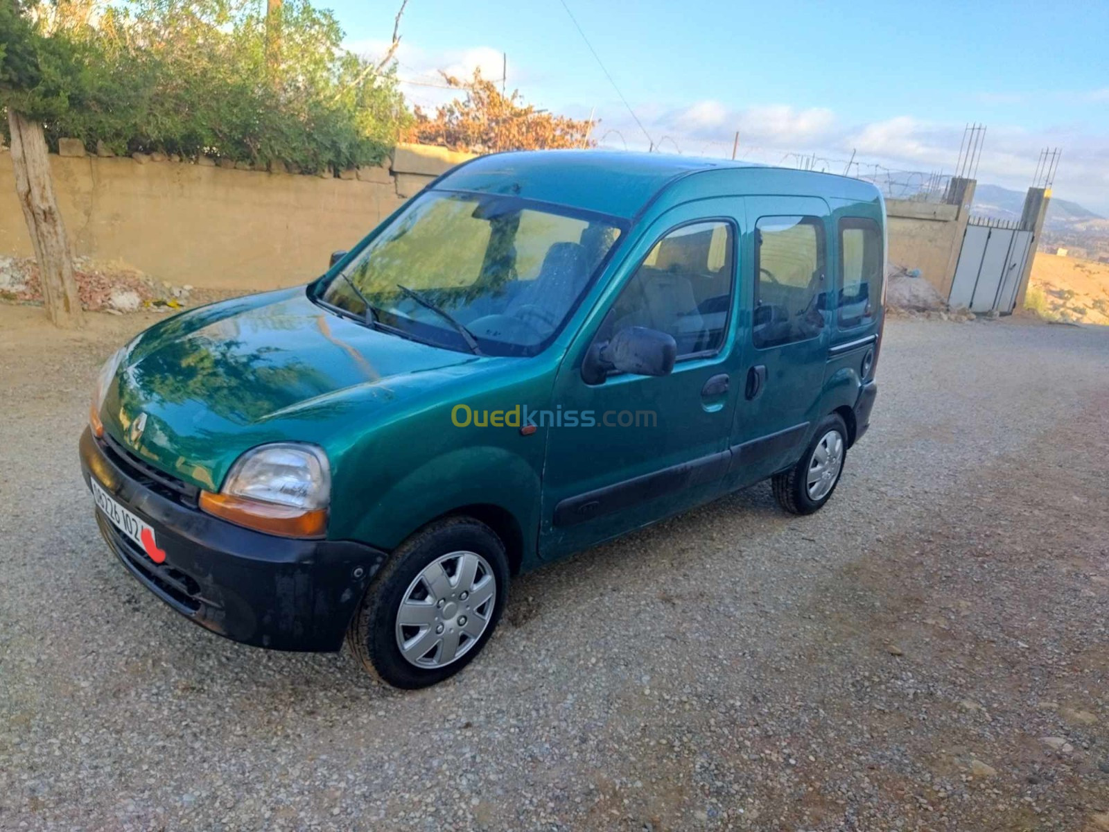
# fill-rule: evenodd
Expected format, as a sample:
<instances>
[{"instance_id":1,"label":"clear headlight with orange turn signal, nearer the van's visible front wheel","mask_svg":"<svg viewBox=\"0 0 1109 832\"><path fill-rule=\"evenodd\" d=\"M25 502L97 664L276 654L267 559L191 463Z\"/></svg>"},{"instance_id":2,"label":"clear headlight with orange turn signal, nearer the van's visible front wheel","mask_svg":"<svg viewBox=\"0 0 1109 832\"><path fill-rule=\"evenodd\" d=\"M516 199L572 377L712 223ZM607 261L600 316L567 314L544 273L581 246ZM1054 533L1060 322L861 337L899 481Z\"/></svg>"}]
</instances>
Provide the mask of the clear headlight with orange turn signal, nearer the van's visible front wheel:
<instances>
[{"instance_id":1,"label":"clear headlight with orange turn signal, nearer the van's visible front wheel","mask_svg":"<svg viewBox=\"0 0 1109 832\"><path fill-rule=\"evenodd\" d=\"M330 497L330 466L323 448L274 443L243 454L218 494L201 491L200 506L271 535L323 537Z\"/></svg>"}]
</instances>

